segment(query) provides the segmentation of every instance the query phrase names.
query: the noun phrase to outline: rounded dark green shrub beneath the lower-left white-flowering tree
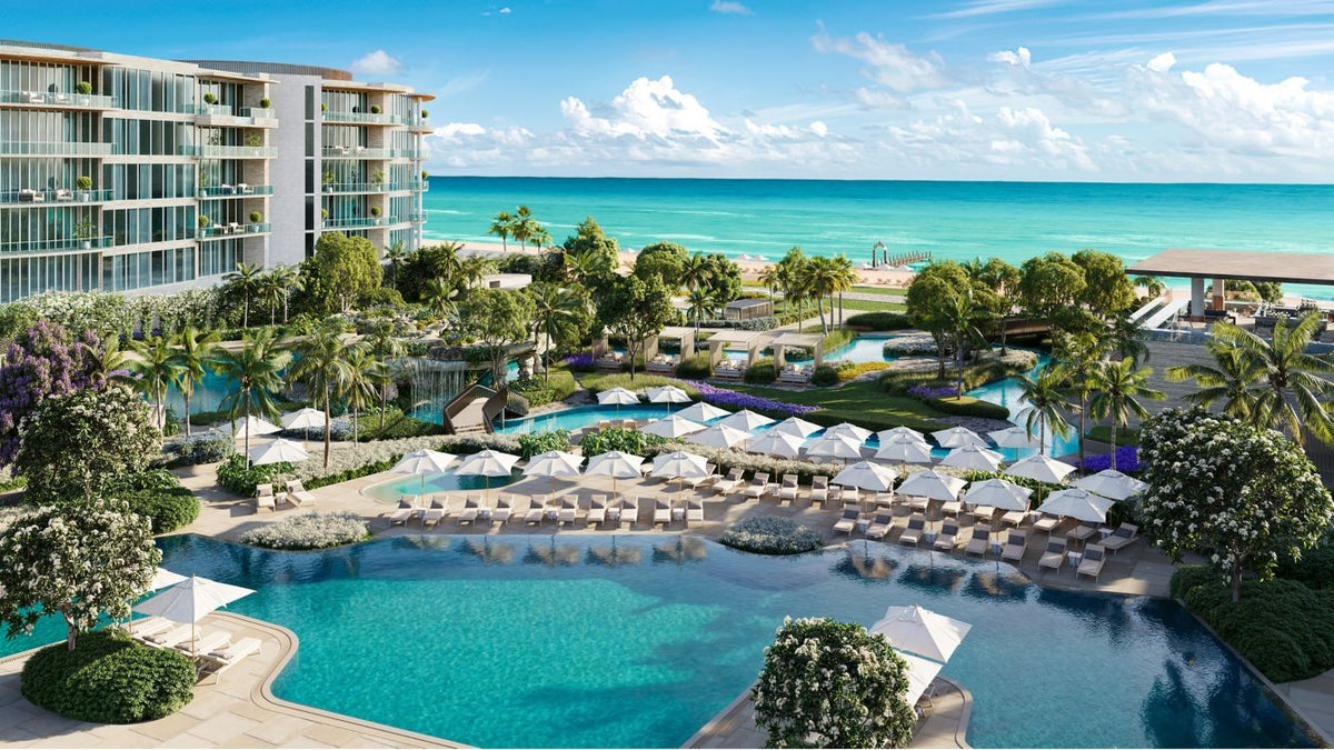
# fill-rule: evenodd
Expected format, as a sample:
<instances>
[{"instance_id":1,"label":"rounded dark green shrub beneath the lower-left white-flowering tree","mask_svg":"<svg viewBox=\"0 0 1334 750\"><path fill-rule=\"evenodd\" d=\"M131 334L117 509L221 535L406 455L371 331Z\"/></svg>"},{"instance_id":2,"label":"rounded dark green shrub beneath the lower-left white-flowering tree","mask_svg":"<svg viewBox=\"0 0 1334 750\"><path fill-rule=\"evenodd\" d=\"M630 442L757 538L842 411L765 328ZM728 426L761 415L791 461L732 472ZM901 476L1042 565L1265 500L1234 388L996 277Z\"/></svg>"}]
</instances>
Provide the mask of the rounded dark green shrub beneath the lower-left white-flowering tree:
<instances>
[{"instance_id":1,"label":"rounded dark green shrub beneath the lower-left white-flowering tree","mask_svg":"<svg viewBox=\"0 0 1334 750\"><path fill-rule=\"evenodd\" d=\"M48 646L23 667L23 697L61 717L137 723L171 715L193 699L195 665L173 649L151 649L108 629L71 651Z\"/></svg>"}]
</instances>

